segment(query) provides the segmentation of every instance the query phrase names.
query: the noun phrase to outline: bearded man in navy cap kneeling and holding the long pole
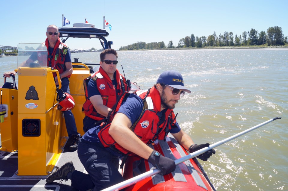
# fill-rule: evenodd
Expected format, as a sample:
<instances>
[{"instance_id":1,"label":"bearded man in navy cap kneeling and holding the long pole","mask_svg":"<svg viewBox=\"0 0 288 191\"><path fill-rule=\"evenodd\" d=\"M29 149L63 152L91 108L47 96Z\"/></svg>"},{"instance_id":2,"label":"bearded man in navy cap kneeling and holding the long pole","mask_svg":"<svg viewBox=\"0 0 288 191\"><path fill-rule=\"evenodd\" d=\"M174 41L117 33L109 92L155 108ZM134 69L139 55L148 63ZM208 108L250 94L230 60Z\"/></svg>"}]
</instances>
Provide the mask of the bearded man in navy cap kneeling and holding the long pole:
<instances>
[{"instance_id":1,"label":"bearded man in navy cap kneeling and holding the long pole","mask_svg":"<svg viewBox=\"0 0 288 191\"><path fill-rule=\"evenodd\" d=\"M148 144L157 139L165 140L170 132L189 152L209 146L209 143L194 144L176 122L173 108L186 92L191 93L184 87L182 75L169 70L159 76L154 87L137 91L138 96L126 93L115 113L108 116L107 124L91 128L80 138L78 157L88 175L76 171L70 161L49 175L46 182L71 179L72 186L79 190L105 189L124 181L118 172L119 157L127 154L148 160L161 175L173 172L174 160L164 157ZM215 150L211 149L198 158L206 161L212 154Z\"/></svg>"}]
</instances>

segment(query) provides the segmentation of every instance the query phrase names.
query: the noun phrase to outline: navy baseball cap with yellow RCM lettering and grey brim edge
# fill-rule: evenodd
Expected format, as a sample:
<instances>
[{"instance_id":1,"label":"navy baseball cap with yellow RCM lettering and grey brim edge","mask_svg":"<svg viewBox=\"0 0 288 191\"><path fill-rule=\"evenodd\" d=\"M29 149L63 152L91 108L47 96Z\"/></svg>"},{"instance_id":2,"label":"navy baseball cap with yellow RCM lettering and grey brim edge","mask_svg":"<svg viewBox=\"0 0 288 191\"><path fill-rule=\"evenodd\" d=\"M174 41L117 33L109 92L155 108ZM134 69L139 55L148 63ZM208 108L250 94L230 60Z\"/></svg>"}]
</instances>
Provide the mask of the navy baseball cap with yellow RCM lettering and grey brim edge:
<instances>
[{"instance_id":1,"label":"navy baseball cap with yellow RCM lettering and grey brim edge","mask_svg":"<svg viewBox=\"0 0 288 191\"><path fill-rule=\"evenodd\" d=\"M184 82L182 75L175 70L167 70L160 74L157 79L157 84L166 84L176 89L181 89L187 93L191 93L186 87L184 87Z\"/></svg>"}]
</instances>

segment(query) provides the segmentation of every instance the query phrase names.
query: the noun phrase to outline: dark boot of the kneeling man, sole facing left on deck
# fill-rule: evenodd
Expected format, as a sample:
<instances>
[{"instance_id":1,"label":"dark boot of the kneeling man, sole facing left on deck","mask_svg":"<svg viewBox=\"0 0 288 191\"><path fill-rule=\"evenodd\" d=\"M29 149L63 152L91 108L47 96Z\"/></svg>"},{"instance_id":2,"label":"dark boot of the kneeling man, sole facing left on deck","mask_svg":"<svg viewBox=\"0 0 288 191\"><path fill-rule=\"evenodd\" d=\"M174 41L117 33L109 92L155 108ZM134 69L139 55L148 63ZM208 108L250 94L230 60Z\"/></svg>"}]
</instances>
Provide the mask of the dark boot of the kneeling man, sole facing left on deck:
<instances>
[{"instance_id":1,"label":"dark boot of the kneeling man, sole facing left on deck","mask_svg":"<svg viewBox=\"0 0 288 191\"><path fill-rule=\"evenodd\" d=\"M49 184L55 180L68 180L67 174L68 172L73 172L75 170L73 166L73 162L69 161L61 166L59 169L52 172L47 178L46 182Z\"/></svg>"}]
</instances>

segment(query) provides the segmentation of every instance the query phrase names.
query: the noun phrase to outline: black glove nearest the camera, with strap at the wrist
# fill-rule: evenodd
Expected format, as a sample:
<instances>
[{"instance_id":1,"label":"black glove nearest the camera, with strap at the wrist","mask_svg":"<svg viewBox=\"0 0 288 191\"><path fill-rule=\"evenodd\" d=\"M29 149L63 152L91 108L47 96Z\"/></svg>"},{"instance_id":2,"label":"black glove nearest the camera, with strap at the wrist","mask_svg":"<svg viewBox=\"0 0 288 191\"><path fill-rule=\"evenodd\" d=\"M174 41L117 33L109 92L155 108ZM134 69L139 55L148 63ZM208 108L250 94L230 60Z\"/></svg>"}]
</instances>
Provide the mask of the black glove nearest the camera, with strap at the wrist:
<instances>
[{"instance_id":1,"label":"black glove nearest the camera, with strap at the wrist","mask_svg":"<svg viewBox=\"0 0 288 191\"><path fill-rule=\"evenodd\" d=\"M167 175L170 172L173 172L176 168L175 161L164 157L158 151L153 151L150 157L148 158L148 162L153 164L157 169L161 170L160 175Z\"/></svg>"}]
</instances>

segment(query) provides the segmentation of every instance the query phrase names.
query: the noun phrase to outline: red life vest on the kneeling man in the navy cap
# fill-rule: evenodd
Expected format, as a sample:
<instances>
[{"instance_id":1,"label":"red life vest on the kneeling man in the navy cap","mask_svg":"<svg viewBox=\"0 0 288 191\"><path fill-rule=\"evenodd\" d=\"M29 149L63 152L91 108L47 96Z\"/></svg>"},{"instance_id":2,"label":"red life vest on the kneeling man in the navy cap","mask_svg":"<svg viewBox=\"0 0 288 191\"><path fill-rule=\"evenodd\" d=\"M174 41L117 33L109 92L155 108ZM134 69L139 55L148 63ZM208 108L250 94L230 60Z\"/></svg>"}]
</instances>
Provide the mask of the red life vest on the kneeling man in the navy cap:
<instances>
[{"instance_id":1,"label":"red life vest on the kneeling man in the navy cap","mask_svg":"<svg viewBox=\"0 0 288 191\"><path fill-rule=\"evenodd\" d=\"M148 90L149 91L149 90ZM140 117L134 122L131 127L131 130L139 137L145 144L153 143L155 140L164 140L164 137L167 136L167 133L172 128L171 125L176 124L175 115L173 110L167 109L165 112L165 120L162 124L159 124L160 112L161 109L161 98L158 90L155 87L150 89L150 92L147 90L137 91L144 102L144 110ZM148 95L147 92L149 93ZM129 95L128 95L129 96ZM116 112L119 110L122 101L126 99L126 96L123 96L116 107ZM147 105L146 105L146 103ZM148 109L145 109L148 107ZM116 113L115 112L115 113ZM110 124L106 125L98 133L98 137L104 147L113 146L121 151L123 154L130 154L130 151L126 150L118 143L115 142L113 137L108 133Z\"/></svg>"}]
</instances>

